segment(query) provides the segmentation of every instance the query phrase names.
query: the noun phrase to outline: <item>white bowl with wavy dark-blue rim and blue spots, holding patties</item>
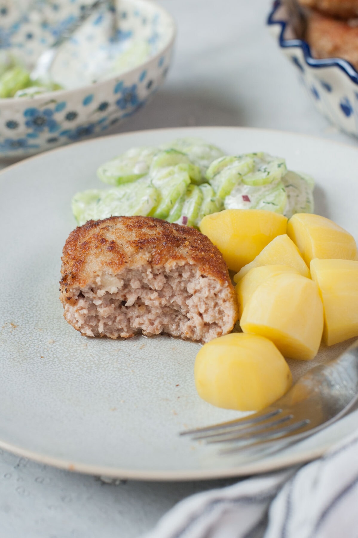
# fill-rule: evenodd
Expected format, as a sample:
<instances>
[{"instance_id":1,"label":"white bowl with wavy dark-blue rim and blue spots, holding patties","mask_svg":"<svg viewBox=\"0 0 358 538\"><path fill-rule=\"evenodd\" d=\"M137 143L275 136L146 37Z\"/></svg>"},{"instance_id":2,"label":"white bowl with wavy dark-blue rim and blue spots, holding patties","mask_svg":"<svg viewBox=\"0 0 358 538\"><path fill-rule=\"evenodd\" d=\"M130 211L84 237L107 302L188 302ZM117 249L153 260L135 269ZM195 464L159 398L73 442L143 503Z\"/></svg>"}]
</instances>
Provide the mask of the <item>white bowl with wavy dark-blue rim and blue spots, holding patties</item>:
<instances>
[{"instance_id":1,"label":"white bowl with wavy dark-blue rim and blue spots, holding patties","mask_svg":"<svg viewBox=\"0 0 358 538\"><path fill-rule=\"evenodd\" d=\"M280 0L274 3L267 24L298 70L316 108L339 129L358 136L358 73L354 67L339 58L312 58L309 45L295 39Z\"/></svg>"}]
</instances>

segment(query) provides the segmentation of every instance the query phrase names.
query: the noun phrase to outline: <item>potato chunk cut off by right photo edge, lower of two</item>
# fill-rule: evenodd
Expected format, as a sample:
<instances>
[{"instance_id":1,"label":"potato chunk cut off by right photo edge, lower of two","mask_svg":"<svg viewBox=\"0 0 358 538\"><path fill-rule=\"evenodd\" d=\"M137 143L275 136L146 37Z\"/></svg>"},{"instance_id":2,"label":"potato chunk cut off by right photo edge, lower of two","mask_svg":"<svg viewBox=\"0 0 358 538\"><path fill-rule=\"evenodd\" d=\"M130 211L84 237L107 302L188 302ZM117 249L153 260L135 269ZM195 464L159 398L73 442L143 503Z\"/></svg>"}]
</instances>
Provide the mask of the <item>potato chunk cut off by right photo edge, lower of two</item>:
<instances>
[{"instance_id":1,"label":"potato chunk cut off by right photo edge, lower of two","mask_svg":"<svg viewBox=\"0 0 358 538\"><path fill-rule=\"evenodd\" d=\"M327 345L358 336L358 261L311 261L324 308L323 338Z\"/></svg>"}]
</instances>

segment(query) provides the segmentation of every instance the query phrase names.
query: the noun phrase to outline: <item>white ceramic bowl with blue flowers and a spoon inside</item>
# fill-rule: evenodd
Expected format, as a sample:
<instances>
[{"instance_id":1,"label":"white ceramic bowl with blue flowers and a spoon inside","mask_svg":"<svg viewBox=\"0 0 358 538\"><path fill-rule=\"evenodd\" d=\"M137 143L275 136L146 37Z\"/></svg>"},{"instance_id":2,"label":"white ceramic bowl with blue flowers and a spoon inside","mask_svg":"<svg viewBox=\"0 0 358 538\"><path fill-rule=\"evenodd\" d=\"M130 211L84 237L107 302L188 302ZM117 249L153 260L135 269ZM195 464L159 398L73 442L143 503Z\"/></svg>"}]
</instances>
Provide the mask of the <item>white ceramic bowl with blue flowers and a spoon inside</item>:
<instances>
[{"instance_id":1,"label":"white ceramic bowl with blue flowers and a spoon inside","mask_svg":"<svg viewBox=\"0 0 358 538\"><path fill-rule=\"evenodd\" d=\"M92 2L48 0L38 2L38 10L26 12L28 0L3 0L0 49L15 52L17 58L31 65L83 6ZM73 89L0 99L0 159L26 157L103 133L132 116L159 88L170 63L174 21L150 0L120 0L119 5L116 50L128 50L131 40L139 44L137 67L123 71L122 66L121 74L102 81L86 80L85 62L108 46L111 14L103 11L91 16L63 46L53 66L55 80L68 80ZM85 82L81 85L81 81Z\"/></svg>"}]
</instances>

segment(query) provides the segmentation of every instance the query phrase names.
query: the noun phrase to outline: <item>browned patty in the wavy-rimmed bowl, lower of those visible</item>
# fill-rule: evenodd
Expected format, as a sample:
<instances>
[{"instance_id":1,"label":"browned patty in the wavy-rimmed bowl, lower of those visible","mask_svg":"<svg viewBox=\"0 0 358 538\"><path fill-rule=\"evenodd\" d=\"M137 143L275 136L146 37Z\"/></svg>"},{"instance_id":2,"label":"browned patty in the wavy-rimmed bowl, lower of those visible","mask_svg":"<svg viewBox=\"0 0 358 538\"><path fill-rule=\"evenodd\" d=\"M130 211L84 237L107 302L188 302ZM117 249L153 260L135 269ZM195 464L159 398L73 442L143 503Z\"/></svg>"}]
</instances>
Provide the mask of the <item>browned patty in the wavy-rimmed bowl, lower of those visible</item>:
<instances>
[{"instance_id":1,"label":"browned patty in the wavy-rimmed bowl, lower of those visible","mask_svg":"<svg viewBox=\"0 0 358 538\"><path fill-rule=\"evenodd\" d=\"M314 58L343 58L358 69L358 27L312 12L306 39Z\"/></svg>"}]
</instances>

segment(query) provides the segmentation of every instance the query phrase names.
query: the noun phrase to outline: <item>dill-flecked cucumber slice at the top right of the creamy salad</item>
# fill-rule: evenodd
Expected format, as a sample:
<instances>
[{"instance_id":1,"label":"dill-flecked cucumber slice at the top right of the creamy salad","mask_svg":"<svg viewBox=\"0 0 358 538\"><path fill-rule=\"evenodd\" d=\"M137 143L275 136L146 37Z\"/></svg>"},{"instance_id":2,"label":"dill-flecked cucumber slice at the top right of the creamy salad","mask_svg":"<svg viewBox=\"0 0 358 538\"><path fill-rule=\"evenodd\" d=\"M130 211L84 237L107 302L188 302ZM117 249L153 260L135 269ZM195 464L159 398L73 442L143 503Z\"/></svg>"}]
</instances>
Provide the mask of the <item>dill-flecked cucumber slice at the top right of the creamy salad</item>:
<instances>
[{"instance_id":1,"label":"dill-flecked cucumber slice at the top right of the creamy salad","mask_svg":"<svg viewBox=\"0 0 358 538\"><path fill-rule=\"evenodd\" d=\"M254 170L242 179L246 185L255 187L279 181L287 172L286 163L280 157L272 157L268 153L248 153L254 160Z\"/></svg>"}]
</instances>

